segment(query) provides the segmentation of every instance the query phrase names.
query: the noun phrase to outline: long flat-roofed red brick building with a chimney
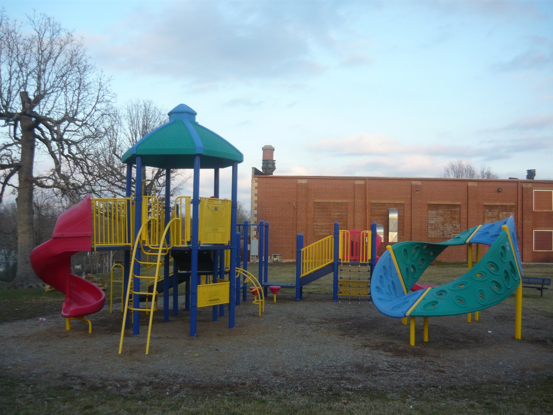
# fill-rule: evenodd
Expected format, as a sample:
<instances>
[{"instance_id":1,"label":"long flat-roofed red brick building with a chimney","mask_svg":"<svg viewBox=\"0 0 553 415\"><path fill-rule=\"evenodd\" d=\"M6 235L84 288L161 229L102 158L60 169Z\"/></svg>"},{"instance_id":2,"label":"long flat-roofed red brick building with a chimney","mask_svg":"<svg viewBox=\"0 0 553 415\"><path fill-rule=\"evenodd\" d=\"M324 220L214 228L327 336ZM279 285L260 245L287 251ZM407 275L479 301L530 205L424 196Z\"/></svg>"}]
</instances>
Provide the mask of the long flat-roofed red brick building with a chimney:
<instances>
[{"instance_id":1,"label":"long flat-roofed red brick building with a chimney","mask_svg":"<svg viewBox=\"0 0 553 415\"><path fill-rule=\"evenodd\" d=\"M440 242L513 215L524 262L553 262L553 181L273 175L274 148L263 147L262 170L252 168L252 221L270 225L269 256L295 260L296 234L305 245L340 229L384 226L398 212L398 242ZM467 261L467 247L448 248L442 261Z\"/></svg>"}]
</instances>

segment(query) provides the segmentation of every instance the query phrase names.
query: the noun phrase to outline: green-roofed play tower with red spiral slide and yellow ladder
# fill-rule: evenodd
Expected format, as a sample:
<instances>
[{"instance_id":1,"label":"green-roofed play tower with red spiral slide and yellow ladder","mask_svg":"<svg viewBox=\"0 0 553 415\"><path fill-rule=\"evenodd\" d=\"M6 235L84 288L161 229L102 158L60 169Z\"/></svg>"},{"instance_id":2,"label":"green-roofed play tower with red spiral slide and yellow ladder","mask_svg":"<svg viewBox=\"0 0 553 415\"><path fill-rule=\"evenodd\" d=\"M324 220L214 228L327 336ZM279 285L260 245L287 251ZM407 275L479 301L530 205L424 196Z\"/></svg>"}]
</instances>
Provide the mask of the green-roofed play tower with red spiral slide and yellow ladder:
<instances>
[{"instance_id":1,"label":"green-roofed play tower with red spiral slide and yellow ladder","mask_svg":"<svg viewBox=\"0 0 553 415\"><path fill-rule=\"evenodd\" d=\"M197 331L197 309L212 307L212 320L225 315L234 327L234 307L247 283L262 291L257 279L239 268L236 210L238 163L243 155L221 136L196 122L197 113L181 104L169 112L169 122L145 135L122 157L127 164L126 197L91 199L63 212L51 240L35 248L31 263L44 282L65 293L62 315L83 320L105 304L103 291L71 274L70 257L78 251L123 251L123 324L119 353L129 320L140 332L140 312L148 321L149 351L153 313L163 293L163 319L169 320L169 290L173 315L178 315L178 288L185 283L185 310L190 310L190 335ZM143 167L165 169L165 197L144 195ZM232 168L231 200L220 199L220 169ZM171 206L171 170L193 169L192 196L178 196ZM200 197L200 170L213 169L213 194ZM135 175L134 192L133 170ZM247 229L247 226L246 226ZM173 260L173 269L170 262ZM113 278L112 278L113 281ZM145 303L145 306L141 305ZM257 299L260 312L264 297ZM110 311L112 300L110 299ZM87 320L87 319L85 319ZM87 320L89 327L90 320Z\"/></svg>"}]
</instances>

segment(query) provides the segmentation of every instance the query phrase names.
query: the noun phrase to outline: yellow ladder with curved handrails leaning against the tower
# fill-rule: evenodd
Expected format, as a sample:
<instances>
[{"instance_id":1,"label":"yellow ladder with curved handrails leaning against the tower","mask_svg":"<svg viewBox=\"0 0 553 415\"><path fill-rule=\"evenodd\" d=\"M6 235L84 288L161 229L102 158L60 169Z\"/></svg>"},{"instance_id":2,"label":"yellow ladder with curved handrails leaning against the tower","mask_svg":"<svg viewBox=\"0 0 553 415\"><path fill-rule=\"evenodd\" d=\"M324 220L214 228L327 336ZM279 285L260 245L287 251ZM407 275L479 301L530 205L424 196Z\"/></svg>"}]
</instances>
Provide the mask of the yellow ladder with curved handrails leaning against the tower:
<instances>
[{"instance_id":1,"label":"yellow ladder with curved handrails leaning against the tower","mask_svg":"<svg viewBox=\"0 0 553 415\"><path fill-rule=\"evenodd\" d=\"M134 242L134 248L133 248L133 252L132 252L132 261L131 261L131 272L130 272L130 275L129 275L129 282L128 282L128 286L127 286L127 298L125 299L125 309L124 309L124 312L123 312L123 326L121 328L121 341L119 341L119 354L122 353L123 351L123 337L124 337L124 334L125 334L125 324L127 323L127 315L128 315L128 312L129 310L131 311L138 311L138 312L146 312L146 313L149 313L150 314L150 321L149 321L149 324L148 324L148 340L146 342L146 354L148 354L148 351L150 349L150 335L152 334L152 321L153 321L153 317L154 317L154 311L156 310L156 307L155 307L155 298L156 298L156 295L158 294L157 292L157 287L158 287L158 282L160 281L160 269L161 269L161 264L163 264L163 260L162 258L167 255L169 253L169 250L171 248L171 246L168 246L167 243L165 242L165 236L167 235L167 232L169 231L169 227L171 225L171 222L173 222L174 219L171 219L169 221L169 223L167 224L167 226L165 227L165 230L163 232L163 236L161 236L161 239L160 239L160 245L158 247L152 247L152 246L148 246L149 248L149 252L146 252L144 250L144 246L143 246L143 238L142 238L142 233L143 231L145 231L146 229L148 229L148 222L150 222L152 219L148 219L147 221L144 222L144 224L142 225L142 227L140 228L140 231L138 232L138 237L136 238L136 241ZM140 251L139 251L140 250ZM148 258L147 261L140 261L137 259L137 252L142 252L144 253L144 255ZM157 257L156 257L156 261L150 261L149 260L149 257L150 256L154 256L157 254ZM148 269L149 266L154 266L155 265L155 273L153 276L149 276L149 273L147 273L145 276L143 275L137 275L134 273L134 264L135 262L139 263L140 266L143 266L145 265ZM142 272L140 272L140 274L142 274ZM142 292L140 289L138 290L134 290L132 289L133 287L133 281L134 281L134 278L139 278L140 280L142 279L145 279L147 281L147 284L146 284L146 292ZM149 290L148 290L148 286L150 285L149 283L150 282L153 282L153 290L152 292L150 293ZM137 294L137 295L145 295L146 297L146 308L140 308L140 304L133 304L133 295L134 294ZM148 307L148 298L152 297L152 301L151 301L151 305L150 307Z\"/></svg>"}]
</instances>

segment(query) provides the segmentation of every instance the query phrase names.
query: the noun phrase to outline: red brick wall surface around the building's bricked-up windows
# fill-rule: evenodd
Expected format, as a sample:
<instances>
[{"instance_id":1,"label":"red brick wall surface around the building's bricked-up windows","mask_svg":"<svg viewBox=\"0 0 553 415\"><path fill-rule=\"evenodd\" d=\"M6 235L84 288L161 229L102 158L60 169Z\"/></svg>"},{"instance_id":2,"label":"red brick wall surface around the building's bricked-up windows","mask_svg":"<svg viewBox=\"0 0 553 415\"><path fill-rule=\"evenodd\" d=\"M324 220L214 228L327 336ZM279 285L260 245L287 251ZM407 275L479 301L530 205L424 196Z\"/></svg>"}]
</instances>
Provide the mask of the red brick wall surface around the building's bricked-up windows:
<instances>
[{"instance_id":1,"label":"red brick wall surface around the building's bricked-up windows","mask_svg":"<svg viewBox=\"0 0 553 415\"><path fill-rule=\"evenodd\" d=\"M533 251L533 230L553 229L553 212L533 211L533 190L553 189L553 181L278 175L255 176L254 180L257 181L257 200L252 203L252 211L254 208L257 211L255 220L269 221L269 255L280 253L285 260L295 260L296 234L304 234L304 245L315 242L314 203L335 200L347 203L347 225L340 224L341 229L368 229L373 221L369 217L373 203L377 204L375 207L397 205L403 206L399 241L429 242L443 240L428 236L429 203L459 205L461 230L483 224L484 204L514 203L522 260L553 262L553 252ZM382 225L387 232L387 221ZM467 261L467 252L467 246L450 247L440 259Z\"/></svg>"}]
</instances>

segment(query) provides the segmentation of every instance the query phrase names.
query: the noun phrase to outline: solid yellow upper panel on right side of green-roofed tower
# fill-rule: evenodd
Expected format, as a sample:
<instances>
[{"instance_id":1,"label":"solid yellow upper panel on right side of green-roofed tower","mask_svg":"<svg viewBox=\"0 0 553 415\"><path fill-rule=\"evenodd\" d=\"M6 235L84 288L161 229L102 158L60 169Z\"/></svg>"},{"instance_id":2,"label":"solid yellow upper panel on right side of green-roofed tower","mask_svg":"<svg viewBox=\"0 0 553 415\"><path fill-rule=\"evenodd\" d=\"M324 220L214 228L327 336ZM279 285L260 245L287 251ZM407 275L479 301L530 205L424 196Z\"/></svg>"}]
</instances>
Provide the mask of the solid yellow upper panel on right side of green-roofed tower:
<instances>
[{"instance_id":1,"label":"solid yellow upper panel on right side of green-roofed tower","mask_svg":"<svg viewBox=\"0 0 553 415\"><path fill-rule=\"evenodd\" d=\"M200 232L202 244L228 245L231 241L231 201L200 198Z\"/></svg>"}]
</instances>

